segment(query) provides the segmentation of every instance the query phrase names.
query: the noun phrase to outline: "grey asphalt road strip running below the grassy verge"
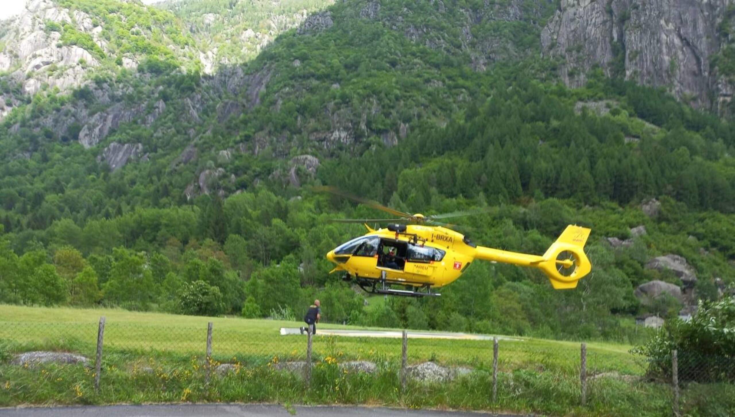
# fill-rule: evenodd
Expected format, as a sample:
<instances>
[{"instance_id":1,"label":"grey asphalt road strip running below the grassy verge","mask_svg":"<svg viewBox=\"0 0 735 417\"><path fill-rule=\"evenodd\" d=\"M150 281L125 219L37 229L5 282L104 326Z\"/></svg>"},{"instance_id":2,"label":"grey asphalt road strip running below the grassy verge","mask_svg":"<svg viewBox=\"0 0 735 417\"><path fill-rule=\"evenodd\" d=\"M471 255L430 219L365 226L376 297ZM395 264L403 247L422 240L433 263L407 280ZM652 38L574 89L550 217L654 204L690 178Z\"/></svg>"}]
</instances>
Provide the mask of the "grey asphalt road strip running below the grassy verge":
<instances>
[{"instance_id":1,"label":"grey asphalt road strip running below the grassy verge","mask_svg":"<svg viewBox=\"0 0 735 417\"><path fill-rule=\"evenodd\" d=\"M106 407L0 408L0 417L518 417L460 411L370 407L284 407L282 405L109 405Z\"/></svg>"}]
</instances>

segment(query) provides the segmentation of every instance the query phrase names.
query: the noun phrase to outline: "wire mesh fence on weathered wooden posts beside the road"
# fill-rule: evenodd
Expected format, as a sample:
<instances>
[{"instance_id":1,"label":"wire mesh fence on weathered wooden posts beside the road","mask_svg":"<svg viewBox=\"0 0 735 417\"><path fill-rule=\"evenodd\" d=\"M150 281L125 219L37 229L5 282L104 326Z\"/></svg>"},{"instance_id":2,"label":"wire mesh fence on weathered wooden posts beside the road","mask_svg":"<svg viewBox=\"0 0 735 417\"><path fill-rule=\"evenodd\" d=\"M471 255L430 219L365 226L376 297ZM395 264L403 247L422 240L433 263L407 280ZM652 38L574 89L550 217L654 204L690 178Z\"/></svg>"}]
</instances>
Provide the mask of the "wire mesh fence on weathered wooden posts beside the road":
<instances>
[{"instance_id":1,"label":"wire mesh fence on weathered wooden posts beside the road","mask_svg":"<svg viewBox=\"0 0 735 417\"><path fill-rule=\"evenodd\" d=\"M410 381L445 383L471 374L487 382L484 395L497 404L526 395L544 378L567 401L581 406L604 399L611 384L649 383L668 387L674 415L695 407L703 387L735 382L735 358L696 352L672 351L669 358L658 361L631 360L628 352L603 344L558 342L551 348L548 342L527 339L462 335L441 339L421 332L351 336L312 336L297 329L275 333L243 325L218 328L211 323L184 327L104 319L99 323L3 322L0 364L43 366L45 357L29 352L71 352L88 359L85 375L93 378L96 388L104 385L106 374L155 374L165 379L173 374L179 377L178 364L192 363L193 377L198 375L207 383L212 377L243 369L270 369L284 371L306 387L312 383L312 369L322 364L337 364L345 373L392 372L400 383L397 389L405 389ZM504 351L506 347L512 349Z\"/></svg>"}]
</instances>

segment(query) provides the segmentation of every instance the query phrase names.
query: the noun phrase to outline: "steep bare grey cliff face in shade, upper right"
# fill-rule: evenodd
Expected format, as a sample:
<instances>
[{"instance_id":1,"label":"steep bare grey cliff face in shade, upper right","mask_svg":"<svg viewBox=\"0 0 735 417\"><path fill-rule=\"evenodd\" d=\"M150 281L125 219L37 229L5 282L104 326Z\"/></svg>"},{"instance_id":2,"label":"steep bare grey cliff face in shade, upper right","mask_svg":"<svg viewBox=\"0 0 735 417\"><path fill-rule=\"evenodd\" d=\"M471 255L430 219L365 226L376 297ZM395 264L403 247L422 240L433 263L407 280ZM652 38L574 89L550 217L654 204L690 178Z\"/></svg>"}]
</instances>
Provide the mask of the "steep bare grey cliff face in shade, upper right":
<instances>
[{"instance_id":1,"label":"steep bare grey cliff face in shade, upper right","mask_svg":"<svg viewBox=\"0 0 735 417\"><path fill-rule=\"evenodd\" d=\"M607 76L666 87L694 106L720 109L731 84L712 57L728 42L732 0L562 0L545 26L543 54L561 60L564 82L584 85L599 65Z\"/></svg>"}]
</instances>

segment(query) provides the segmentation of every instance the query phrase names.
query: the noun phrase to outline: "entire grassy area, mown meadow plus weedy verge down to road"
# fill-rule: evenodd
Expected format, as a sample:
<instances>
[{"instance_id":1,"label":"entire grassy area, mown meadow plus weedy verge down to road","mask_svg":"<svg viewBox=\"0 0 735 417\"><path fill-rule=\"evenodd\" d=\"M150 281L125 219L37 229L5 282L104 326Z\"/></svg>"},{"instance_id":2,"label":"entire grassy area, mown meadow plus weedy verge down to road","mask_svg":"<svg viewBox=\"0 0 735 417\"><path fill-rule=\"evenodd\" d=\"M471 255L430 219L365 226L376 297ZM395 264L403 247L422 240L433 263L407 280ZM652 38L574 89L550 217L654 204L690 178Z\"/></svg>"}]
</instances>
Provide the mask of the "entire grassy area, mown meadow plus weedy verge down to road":
<instances>
[{"instance_id":1,"label":"entire grassy area, mown meadow plus weedy verge down to road","mask_svg":"<svg viewBox=\"0 0 735 417\"><path fill-rule=\"evenodd\" d=\"M25 367L8 363L18 352L47 349L93 358L97 325L106 317L101 388L83 366ZM207 322L213 322L212 358L234 372L207 382ZM306 337L280 336L299 322L175 316L115 309L29 308L0 305L0 406L110 404L116 402L281 402L368 404L503 410L551 415L648 415L670 412L670 388L661 383L595 377L615 371L640 376L644 362L623 344L588 343L588 402L580 405L580 344L518 338L501 341L498 399L492 401L492 341L409 339L409 363L434 360L473 371L453 382L409 380L401 389L401 340L316 336L312 380L276 371L276 363L305 356ZM323 324L322 328L354 328ZM345 360L371 360L376 374L340 369ZM708 387L710 389L711 387ZM735 398L718 387L719 398ZM688 393L688 394L687 394ZM712 393L687 391L692 398ZM697 408L700 407L700 408ZM711 403L687 410L706 414ZM704 407L704 408L702 408ZM717 410L729 412L726 403ZM726 414L723 414L726 415Z\"/></svg>"}]
</instances>

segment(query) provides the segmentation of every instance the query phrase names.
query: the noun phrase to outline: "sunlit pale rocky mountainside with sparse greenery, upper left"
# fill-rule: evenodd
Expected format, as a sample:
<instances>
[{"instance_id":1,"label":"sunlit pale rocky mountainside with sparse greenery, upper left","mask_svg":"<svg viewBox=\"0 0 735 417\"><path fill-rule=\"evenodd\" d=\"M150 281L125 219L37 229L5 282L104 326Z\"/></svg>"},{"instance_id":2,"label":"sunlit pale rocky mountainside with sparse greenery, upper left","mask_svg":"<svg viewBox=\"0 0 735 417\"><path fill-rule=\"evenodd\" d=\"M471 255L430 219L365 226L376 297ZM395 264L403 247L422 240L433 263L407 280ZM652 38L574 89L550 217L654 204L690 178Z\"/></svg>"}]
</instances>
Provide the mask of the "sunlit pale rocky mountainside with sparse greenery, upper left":
<instances>
[{"instance_id":1,"label":"sunlit pale rocky mountainside with sparse greenery, upper left","mask_svg":"<svg viewBox=\"0 0 735 417\"><path fill-rule=\"evenodd\" d=\"M96 75L135 70L148 51L168 54L182 68L198 65L185 35L153 36L152 26L141 26L154 20L163 21L155 30L178 32L173 15L140 1L28 0L23 12L0 22L0 120L37 93L69 93Z\"/></svg>"}]
</instances>

